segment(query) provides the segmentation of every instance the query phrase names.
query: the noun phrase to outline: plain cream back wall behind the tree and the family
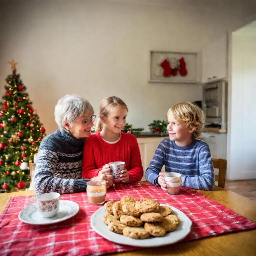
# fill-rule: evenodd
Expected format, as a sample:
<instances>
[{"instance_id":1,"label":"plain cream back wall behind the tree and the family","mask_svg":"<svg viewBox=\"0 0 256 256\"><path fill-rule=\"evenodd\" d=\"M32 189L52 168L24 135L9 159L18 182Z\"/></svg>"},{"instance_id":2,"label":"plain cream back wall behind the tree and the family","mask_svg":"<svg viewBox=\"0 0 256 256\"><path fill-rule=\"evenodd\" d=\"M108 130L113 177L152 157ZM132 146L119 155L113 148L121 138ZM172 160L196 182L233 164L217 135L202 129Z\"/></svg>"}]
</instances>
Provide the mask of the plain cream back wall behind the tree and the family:
<instances>
[{"instance_id":1,"label":"plain cream back wall behind the tree and the family","mask_svg":"<svg viewBox=\"0 0 256 256\"><path fill-rule=\"evenodd\" d=\"M244 1L232 8L227 1L121 2L1 1L0 84L14 58L47 134L56 129L54 106L67 93L89 99L96 113L103 97L119 96L127 121L146 129L165 119L171 105L200 100L197 85L148 84L148 51L201 51L255 11Z\"/></svg>"}]
</instances>

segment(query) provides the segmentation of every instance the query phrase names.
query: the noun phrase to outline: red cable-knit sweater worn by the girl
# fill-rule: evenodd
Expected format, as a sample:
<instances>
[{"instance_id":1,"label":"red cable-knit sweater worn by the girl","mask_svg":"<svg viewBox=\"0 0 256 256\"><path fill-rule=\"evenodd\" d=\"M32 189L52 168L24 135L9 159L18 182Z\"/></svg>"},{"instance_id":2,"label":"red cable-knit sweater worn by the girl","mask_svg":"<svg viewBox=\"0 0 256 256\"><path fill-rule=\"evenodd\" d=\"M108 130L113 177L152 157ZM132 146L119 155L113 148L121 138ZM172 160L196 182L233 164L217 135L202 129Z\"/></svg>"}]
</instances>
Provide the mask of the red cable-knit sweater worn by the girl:
<instances>
[{"instance_id":1,"label":"red cable-knit sweater worn by the girl","mask_svg":"<svg viewBox=\"0 0 256 256\"><path fill-rule=\"evenodd\" d=\"M140 149L137 139L129 133L121 133L117 143L109 144L100 136L100 132L86 138L83 151L84 179L96 177L103 165L110 162L125 162L129 173L129 183L140 181L143 176Z\"/></svg>"}]
</instances>

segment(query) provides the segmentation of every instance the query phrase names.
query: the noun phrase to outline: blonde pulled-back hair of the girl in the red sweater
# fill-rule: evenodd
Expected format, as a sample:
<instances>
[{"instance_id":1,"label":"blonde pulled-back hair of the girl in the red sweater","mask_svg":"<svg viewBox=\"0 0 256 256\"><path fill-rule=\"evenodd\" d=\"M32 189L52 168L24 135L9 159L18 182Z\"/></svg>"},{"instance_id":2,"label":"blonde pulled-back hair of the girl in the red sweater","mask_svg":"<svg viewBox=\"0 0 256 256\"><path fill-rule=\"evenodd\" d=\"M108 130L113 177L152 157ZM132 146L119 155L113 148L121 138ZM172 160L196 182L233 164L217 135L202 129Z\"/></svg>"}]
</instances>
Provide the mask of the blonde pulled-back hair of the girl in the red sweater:
<instances>
[{"instance_id":1,"label":"blonde pulled-back hair of the girl in the red sweater","mask_svg":"<svg viewBox=\"0 0 256 256\"><path fill-rule=\"evenodd\" d=\"M110 96L110 97L105 97L100 103L100 114L103 116L108 116L111 113L113 107L115 106L121 106L125 108L128 112L128 107L123 102L123 100L115 96ZM98 118L95 132L101 131L102 129L103 129L103 123L101 122L100 118Z\"/></svg>"}]
</instances>

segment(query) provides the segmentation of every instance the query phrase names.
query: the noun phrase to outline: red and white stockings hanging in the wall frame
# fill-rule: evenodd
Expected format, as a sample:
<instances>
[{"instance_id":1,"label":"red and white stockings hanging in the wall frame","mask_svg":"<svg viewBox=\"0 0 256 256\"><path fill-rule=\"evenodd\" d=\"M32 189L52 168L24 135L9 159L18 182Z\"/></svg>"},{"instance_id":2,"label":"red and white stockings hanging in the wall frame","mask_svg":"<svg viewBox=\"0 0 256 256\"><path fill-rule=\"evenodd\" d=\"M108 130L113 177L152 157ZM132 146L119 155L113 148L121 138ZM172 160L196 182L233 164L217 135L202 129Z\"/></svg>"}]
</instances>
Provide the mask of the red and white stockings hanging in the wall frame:
<instances>
[{"instance_id":1,"label":"red and white stockings hanging in the wall frame","mask_svg":"<svg viewBox=\"0 0 256 256\"><path fill-rule=\"evenodd\" d=\"M188 73L184 57L180 58L179 60L172 57L169 60L165 54L162 54L157 64L158 66L156 67L155 70L155 76L157 77L176 76L178 74L178 71L181 76L186 76Z\"/></svg>"}]
</instances>

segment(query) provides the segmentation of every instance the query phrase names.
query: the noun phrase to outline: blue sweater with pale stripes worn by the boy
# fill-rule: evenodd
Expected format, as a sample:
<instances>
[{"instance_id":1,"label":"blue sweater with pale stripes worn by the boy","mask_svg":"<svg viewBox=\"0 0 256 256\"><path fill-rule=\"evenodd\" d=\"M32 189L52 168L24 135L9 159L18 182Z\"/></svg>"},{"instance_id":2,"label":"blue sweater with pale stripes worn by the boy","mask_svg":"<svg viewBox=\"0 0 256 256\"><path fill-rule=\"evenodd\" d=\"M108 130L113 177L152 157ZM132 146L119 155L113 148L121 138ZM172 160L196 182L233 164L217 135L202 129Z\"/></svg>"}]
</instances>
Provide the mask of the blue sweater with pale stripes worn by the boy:
<instances>
[{"instance_id":1,"label":"blue sweater with pale stripes worn by the boy","mask_svg":"<svg viewBox=\"0 0 256 256\"><path fill-rule=\"evenodd\" d=\"M167 172L182 174L182 186L202 190L213 190L215 186L210 148L204 141L195 139L190 145L179 147L164 138L146 170L147 181L159 186L157 178L163 165Z\"/></svg>"}]
</instances>

